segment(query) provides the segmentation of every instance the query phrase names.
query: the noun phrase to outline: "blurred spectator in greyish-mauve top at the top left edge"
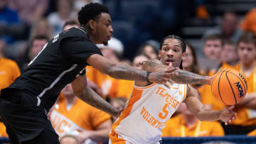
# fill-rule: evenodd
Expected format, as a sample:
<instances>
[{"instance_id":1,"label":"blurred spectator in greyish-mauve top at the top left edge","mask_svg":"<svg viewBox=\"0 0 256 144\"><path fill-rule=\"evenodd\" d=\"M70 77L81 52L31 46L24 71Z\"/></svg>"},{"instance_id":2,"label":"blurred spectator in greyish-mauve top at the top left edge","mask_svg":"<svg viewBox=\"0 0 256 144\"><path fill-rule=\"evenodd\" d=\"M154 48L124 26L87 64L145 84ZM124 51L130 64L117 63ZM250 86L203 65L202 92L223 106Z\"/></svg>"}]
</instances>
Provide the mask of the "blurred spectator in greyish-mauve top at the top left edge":
<instances>
[{"instance_id":1,"label":"blurred spectator in greyish-mauve top at the top left edge","mask_svg":"<svg viewBox=\"0 0 256 144\"><path fill-rule=\"evenodd\" d=\"M25 23L36 23L48 9L49 0L9 0L11 9L18 11L18 16Z\"/></svg>"}]
</instances>

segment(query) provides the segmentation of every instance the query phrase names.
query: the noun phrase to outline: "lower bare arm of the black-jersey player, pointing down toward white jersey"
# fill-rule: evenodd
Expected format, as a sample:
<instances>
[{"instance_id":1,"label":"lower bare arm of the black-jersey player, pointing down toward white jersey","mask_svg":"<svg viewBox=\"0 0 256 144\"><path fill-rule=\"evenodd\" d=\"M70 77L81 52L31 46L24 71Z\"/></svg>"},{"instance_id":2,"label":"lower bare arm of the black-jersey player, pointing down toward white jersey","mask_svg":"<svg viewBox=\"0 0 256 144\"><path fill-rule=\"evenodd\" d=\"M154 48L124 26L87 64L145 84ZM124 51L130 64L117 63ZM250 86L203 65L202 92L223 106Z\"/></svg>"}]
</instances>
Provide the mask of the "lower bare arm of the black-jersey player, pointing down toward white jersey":
<instances>
[{"instance_id":1,"label":"lower bare arm of the black-jersey player, pointing down toward white jersey","mask_svg":"<svg viewBox=\"0 0 256 144\"><path fill-rule=\"evenodd\" d=\"M105 111L112 116L119 116L121 111L116 111L114 107L109 104L105 99L94 92L89 86L87 86L86 77L79 76L74 82L72 82L73 92L79 99L85 101L87 104L94 106L97 109Z\"/></svg>"}]
</instances>

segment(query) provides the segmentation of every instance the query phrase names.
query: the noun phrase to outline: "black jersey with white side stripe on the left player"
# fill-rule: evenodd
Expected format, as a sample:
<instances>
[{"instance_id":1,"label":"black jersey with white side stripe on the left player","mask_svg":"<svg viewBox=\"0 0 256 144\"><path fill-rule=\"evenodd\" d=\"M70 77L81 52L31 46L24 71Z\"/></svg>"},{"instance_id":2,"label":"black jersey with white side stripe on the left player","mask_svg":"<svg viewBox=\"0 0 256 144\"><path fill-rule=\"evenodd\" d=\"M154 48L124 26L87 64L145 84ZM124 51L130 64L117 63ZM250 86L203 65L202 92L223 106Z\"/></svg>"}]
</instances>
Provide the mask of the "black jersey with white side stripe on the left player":
<instances>
[{"instance_id":1,"label":"black jersey with white side stripe on the left player","mask_svg":"<svg viewBox=\"0 0 256 144\"><path fill-rule=\"evenodd\" d=\"M9 88L37 96L37 105L48 111L60 91L85 70L86 59L93 54L102 55L87 33L80 28L70 28L46 43Z\"/></svg>"}]
</instances>

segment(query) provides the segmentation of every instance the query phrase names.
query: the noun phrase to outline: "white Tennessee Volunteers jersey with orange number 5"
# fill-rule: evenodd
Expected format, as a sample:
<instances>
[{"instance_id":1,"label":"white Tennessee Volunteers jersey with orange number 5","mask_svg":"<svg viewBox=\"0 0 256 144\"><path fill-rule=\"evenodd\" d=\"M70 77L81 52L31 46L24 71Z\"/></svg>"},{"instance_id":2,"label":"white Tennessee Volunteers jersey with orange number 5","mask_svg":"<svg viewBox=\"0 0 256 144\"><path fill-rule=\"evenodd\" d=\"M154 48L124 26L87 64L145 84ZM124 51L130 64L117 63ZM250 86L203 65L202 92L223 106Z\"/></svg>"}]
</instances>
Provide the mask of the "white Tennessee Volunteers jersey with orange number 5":
<instances>
[{"instance_id":1,"label":"white Tennessee Volunteers jersey with orange number 5","mask_svg":"<svg viewBox=\"0 0 256 144\"><path fill-rule=\"evenodd\" d=\"M112 126L110 143L158 143L161 129L186 97L186 84L134 85L124 111Z\"/></svg>"}]
</instances>

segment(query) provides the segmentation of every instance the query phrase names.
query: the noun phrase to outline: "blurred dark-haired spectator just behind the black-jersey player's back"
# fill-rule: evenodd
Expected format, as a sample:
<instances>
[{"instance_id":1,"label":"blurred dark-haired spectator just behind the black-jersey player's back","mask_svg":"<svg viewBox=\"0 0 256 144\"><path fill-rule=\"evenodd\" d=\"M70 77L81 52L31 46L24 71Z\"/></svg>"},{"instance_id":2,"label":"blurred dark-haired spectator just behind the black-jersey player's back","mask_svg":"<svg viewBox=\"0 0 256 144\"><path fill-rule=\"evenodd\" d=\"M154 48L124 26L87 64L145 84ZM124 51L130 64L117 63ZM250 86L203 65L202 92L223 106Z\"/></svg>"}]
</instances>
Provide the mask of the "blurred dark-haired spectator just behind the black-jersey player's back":
<instances>
[{"instance_id":1,"label":"blurred dark-haired spectator just behind the black-jersey player's back","mask_svg":"<svg viewBox=\"0 0 256 144\"><path fill-rule=\"evenodd\" d=\"M28 67L28 63L33 60L34 57L40 52L40 50L43 48L46 43L48 43L48 36L47 35L36 35L34 38L32 38L31 43L29 44L29 47L26 50L26 56L23 58L21 62L21 72L23 70L26 70Z\"/></svg>"}]
</instances>

